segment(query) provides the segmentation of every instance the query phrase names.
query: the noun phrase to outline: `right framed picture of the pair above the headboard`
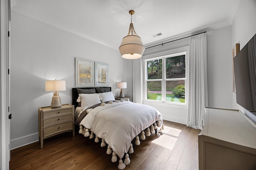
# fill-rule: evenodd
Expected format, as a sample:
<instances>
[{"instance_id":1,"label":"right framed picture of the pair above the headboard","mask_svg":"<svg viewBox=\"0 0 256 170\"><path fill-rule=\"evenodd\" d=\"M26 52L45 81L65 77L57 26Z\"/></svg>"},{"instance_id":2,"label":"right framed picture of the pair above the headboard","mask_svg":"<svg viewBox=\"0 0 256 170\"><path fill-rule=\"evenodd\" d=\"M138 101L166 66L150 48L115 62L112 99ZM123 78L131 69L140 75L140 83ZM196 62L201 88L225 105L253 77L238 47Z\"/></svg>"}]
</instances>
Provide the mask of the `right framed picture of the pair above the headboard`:
<instances>
[{"instance_id":1,"label":"right framed picture of the pair above the headboard","mask_svg":"<svg viewBox=\"0 0 256 170\"><path fill-rule=\"evenodd\" d=\"M108 64L95 61L95 86L108 86Z\"/></svg>"}]
</instances>

